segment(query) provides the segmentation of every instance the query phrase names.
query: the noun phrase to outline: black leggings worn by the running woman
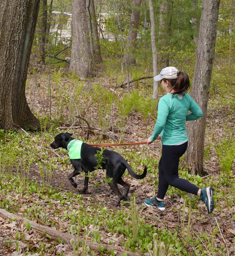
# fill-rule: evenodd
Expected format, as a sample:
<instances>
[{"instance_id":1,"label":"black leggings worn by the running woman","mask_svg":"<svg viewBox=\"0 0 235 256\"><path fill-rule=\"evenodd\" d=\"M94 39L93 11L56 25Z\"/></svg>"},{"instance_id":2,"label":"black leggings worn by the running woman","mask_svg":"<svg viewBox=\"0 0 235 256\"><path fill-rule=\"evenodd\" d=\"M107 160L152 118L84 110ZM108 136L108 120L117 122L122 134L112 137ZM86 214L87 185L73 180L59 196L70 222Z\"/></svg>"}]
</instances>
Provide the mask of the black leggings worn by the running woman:
<instances>
[{"instance_id":1,"label":"black leggings worn by the running woman","mask_svg":"<svg viewBox=\"0 0 235 256\"><path fill-rule=\"evenodd\" d=\"M194 195L198 194L198 187L186 179L179 178L179 158L185 153L188 142L181 145L162 145L162 156L158 170L158 194L157 198L164 199L168 186L171 185Z\"/></svg>"}]
</instances>

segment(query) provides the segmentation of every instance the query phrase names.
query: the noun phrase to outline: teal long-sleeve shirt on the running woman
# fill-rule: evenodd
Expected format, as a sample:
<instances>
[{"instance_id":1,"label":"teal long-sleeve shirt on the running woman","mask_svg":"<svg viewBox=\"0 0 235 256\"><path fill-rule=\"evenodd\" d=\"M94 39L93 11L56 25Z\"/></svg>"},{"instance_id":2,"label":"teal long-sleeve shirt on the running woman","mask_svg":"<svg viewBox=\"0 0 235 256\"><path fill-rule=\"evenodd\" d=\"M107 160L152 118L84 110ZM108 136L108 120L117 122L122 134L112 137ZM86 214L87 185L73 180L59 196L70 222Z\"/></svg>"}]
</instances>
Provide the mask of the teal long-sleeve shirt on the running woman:
<instances>
[{"instance_id":1,"label":"teal long-sleeve shirt on the running woman","mask_svg":"<svg viewBox=\"0 0 235 256\"><path fill-rule=\"evenodd\" d=\"M188 110L191 112L188 114ZM185 122L202 117L202 110L188 94L167 93L158 103L158 117L151 141L161 134L163 145L174 145L188 141Z\"/></svg>"}]
</instances>

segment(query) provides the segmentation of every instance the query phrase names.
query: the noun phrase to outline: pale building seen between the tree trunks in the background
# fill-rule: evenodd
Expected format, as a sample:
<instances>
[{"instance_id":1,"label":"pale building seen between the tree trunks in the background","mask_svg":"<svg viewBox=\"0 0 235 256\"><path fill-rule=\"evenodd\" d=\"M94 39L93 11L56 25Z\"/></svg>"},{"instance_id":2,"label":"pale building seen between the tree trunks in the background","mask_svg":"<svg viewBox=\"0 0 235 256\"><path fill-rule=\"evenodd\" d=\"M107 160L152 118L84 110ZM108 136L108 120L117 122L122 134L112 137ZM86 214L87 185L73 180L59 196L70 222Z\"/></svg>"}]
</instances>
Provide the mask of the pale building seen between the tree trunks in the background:
<instances>
[{"instance_id":1,"label":"pale building seen between the tree trunks in the background","mask_svg":"<svg viewBox=\"0 0 235 256\"><path fill-rule=\"evenodd\" d=\"M105 39L109 41L115 41L115 36L106 31L106 22L108 18L107 13L100 13L97 18L97 23L99 24L98 31L100 32L100 39ZM69 44L72 36L72 14L71 13L61 13L61 12L52 12L51 17L51 34L53 34L54 43L56 45L59 42L63 44Z\"/></svg>"}]
</instances>

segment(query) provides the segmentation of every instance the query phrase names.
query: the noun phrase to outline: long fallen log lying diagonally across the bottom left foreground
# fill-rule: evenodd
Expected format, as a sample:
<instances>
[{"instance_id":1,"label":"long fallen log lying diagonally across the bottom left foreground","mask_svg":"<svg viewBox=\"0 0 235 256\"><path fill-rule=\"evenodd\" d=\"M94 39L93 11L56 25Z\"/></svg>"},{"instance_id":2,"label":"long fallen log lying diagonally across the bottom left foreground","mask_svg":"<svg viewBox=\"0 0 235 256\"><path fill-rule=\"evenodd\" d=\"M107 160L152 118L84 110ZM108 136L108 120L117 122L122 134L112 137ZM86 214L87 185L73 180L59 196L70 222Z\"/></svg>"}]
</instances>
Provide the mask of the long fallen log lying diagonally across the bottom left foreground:
<instances>
[{"instance_id":1,"label":"long fallen log lying diagonally across the bottom left foreground","mask_svg":"<svg viewBox=\"0 0 235 256\"><path fill-rule=\"evenodd\" d=\"M64 243L70 244L70 240L73 238L73 236L69 233L63 233L59 230L56 230L55 228L49 228L47 226L43 226L40 225L32 220L28 220L26 218L22 218L18 215L12 214L7 212L4 209L0 209L0 217L4 218L4 219L21 219L23 220L23 222L27 222L30 223L31 228L34 228L36 231L38 231L39 233L43 233L43 234L48 234L49 236L51 236L52 238L60 238L64 241ZM77 243L77 238L74 237L74 242ZM82 238L79 240L79 242L82 241ZM99 248L104 248L105 250L111 252L112 250L116 252L115 255L122 255L123 253L125 253L127 251L126 248L123 248L121 246L115 246L115 245L109 245L109 244L101 244L101 243L92 243L87 241L86 244L89 246L89 248L91 250L95 250L95 251L99 251ZM130 256L149 256L149 253L132 253L132 252L128 252L127 251L127 255Z\"/></svg>"}]
</instances>

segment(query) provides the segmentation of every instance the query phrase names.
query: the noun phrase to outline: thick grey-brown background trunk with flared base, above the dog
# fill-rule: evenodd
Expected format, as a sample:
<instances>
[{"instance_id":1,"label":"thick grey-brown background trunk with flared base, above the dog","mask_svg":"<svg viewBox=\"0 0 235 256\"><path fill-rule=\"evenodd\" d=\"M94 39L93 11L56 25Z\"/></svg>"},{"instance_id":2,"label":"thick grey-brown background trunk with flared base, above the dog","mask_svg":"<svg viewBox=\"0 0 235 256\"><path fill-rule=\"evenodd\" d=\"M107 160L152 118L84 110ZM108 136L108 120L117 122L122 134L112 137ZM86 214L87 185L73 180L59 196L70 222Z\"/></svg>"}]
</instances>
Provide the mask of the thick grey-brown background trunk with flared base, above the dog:
<instances>
[{"instance_id":1,"label":"thick grey-brown background trunk with flared base, above the dog","mask_svg":"<svg viewBox=\"0 0 235 256\"><path fill-rule=\"evenodd\" d=\"M92 73L86 0L72 1L72 50L70 72L82 80Z\"/></svg>"}]
</instances>

